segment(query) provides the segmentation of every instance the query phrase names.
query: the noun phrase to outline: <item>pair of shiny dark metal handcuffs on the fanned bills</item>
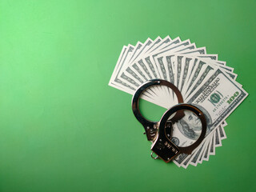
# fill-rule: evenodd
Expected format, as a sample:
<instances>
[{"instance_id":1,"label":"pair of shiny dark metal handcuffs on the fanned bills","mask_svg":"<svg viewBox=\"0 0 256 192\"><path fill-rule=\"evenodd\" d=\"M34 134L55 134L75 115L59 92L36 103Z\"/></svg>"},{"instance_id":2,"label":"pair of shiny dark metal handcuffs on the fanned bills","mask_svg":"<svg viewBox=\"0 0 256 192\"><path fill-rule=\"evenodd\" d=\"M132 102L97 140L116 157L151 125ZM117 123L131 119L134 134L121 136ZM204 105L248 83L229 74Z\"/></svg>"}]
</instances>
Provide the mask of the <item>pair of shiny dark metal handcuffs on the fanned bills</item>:
<instances>
[{"instance_id":1,"label":"pair of shiny dark metal handcuffs on the fanned bills","mask_svg":"<svg viewBox=\"0 0 256 192\"><path fill-rule=\"evenodd\" d=\"M162 118L159 122L153 122L144 118L139 110L139 98L141 97L142 93L149 89L151 86L167 86L174 91L174 94L176 94L178 98L178 105L171 107L169 110L166 110L165 114L162 115ZM165 80L152 79L139 86L132 98L132 110L134 112L135 118L137 118L138 122L140 122L144 127L147 140L152 142L152 153L157 154L156 158L162 158L164 162L170 162L178 154L191 154L192 151L198 147L202 140L205 138L207 126L205 115L196 106L183 103L182 94L178 88L174 86L174 84ZM178 122L178 120L185 116L184 110L190 110L198 116L202 123L202 131L198 140L192 145L180 147L176 146L174 142L171 141L171 136L173 123ZM174 117L170 118L170 116L173 114ZM154 158L152 153L151 157Z\"/></svg>"}]
</instances>

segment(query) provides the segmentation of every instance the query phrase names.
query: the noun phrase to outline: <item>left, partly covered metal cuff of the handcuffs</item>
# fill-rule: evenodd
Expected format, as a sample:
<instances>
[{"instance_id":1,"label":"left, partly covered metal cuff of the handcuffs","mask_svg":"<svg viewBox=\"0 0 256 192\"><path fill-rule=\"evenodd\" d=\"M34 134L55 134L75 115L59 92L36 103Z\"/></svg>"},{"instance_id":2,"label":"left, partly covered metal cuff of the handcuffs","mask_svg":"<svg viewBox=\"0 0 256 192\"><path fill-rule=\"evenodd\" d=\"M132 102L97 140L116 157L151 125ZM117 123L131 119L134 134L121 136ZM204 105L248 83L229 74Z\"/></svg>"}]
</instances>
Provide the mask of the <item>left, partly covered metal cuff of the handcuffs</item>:
<instances>
[{"instance_id":1,"label":"left, partly covered metal cuff of the handcuffs","mask_svg":"<svg viewBox=\"0 0 256 192\"><path fill-rule=\"evenodd\" d=\"M148 82L145 82L141 86L139 86L138 89L135 91L135 94L132 98L132 110L134 112L134 116L135 116L135 118L138 119L138 122L142 123L142 126L144 126L147 140L154 141L154 138L156 138L156 135L158 133L158 122L153 122L153 121L150 121L150 120L144 118L142 116L142 114L139 110L139 106L138 106L139 98L141 97L142 93L146 89L150 88L151 86L167 86L167 87L169 87L176 94L176 96L178 98L178 103L182 103L183 98L182 98L181 92L178 90L178 88L176 86L174 86L174 84L167 82L165 80L162 80L162 79L152 79ZM174 115L174 117L170 119L170 121L166 122L165 128L166 128L166 132L168 133L168 135L171 136L171 129L170 129L172 126L171 123L177 122L182 117L184 117L184 112L182 110L179 110Z\"/></svg>"}]
</instances>

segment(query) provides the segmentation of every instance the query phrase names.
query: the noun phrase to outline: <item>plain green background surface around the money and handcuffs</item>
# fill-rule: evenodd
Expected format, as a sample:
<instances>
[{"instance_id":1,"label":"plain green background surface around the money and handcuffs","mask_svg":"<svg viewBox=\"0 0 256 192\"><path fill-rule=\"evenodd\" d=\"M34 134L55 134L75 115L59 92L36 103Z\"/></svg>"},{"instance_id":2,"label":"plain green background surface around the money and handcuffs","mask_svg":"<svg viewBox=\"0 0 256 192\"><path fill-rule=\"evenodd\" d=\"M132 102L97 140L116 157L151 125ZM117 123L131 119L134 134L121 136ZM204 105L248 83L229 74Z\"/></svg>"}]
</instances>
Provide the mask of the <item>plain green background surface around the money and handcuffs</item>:
<instances>
[{"instance_id":1,"label":"plain green background surface around the money and handcuffs","mask_svg":"<svg viewBox=\"0 0 256 192\"><path fill-rule=\"evenodd\" d=\"M234 0L1 1L0 191L255 191L255 8ZM206 46L250 94L227 118L216 155L187 170L150 158L131 95L108 86L122 46L158 35ZM143 104L148 117L161 117Z\"/></svg>"}]
</instances>

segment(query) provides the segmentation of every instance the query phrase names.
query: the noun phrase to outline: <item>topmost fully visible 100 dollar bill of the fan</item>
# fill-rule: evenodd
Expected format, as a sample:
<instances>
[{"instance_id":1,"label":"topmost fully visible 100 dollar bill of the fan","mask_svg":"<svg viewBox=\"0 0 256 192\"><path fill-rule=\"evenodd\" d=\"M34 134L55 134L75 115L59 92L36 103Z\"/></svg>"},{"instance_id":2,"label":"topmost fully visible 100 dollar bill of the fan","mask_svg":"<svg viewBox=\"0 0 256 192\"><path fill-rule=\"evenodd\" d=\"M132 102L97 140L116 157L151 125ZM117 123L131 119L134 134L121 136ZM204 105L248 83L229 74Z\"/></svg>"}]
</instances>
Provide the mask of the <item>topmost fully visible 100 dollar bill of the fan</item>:
<instances>
[{"instance_id":1,"label":"topmost fully visible 100 dollar bill of the fan","mask_svg":"<svg viewBox=\"0 0 256 192\"><path fill-rule=\"evenodd\" d=\"M207 135L225 121L247 95L248 94L242 87L238 86L236 82L227 77L221 69L216 68L214 73L206 78L204 83L198 86L185 102L198 106L198 108L205 114L207 137ZM186 146L194 143L198 138L198 134L194 132L196 129L191 127L193 123L190 122L192 121L190 119L191 118L184 117L181 119L181 122L183 123L176 123L176 125L174 125L174 137L186 140ZM190 127L188 128L186 125L190 125ZM182 143L184 141L179 142ZM186 154L181 154L174 160L174 162L180 165L186 157Z\"/></svg>"}]
</instances>

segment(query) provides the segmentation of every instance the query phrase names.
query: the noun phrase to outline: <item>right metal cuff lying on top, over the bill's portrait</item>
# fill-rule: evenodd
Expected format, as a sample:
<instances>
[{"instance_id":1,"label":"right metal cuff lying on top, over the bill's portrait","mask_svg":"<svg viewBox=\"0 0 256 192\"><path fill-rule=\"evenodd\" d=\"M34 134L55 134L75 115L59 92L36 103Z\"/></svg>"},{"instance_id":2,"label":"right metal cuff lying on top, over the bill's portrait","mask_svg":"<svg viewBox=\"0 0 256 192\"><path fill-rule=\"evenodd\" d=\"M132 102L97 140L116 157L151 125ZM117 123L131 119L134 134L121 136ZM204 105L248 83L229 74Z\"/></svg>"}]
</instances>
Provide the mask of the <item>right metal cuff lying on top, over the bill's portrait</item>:
<instances>
[{"instance_id":1,"label":"right metal cuff lying on top, over the bill's portrait","mask_svg":"<svg viewBox=\"0 0 256 192\"><path fill-rule=\"evenodd\" d=\"M181 110L190 110L194 112L202 122L202 131L196 142L194 142L190 146L179 147L176 146L173 142L170 141L170 138L166 137L165 126L168 118L174 114L175 112ZM206 135L206 118L205 115L199 110L197 107L192 106L190 104L178 104L167 110L165 114L163 114L158 127L157 138L154 140L151 150L157 157L162 158L164 162L170 162L174 157L178 154L191 154L192 151L200 145L202 140Z\"/></svg>"}]
</instances>

